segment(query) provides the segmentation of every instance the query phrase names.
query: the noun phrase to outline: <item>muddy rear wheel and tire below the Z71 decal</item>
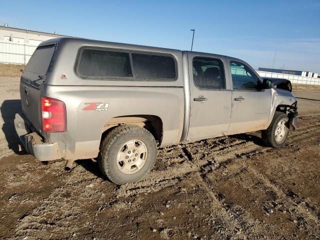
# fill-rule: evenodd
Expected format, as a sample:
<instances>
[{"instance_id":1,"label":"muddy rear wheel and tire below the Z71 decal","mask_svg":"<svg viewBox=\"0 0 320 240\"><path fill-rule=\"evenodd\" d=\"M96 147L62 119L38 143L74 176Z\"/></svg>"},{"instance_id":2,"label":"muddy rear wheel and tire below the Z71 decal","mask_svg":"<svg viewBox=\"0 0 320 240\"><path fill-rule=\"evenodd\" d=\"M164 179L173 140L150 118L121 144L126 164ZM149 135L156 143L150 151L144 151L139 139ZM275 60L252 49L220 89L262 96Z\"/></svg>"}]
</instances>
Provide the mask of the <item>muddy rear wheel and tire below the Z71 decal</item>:
<instances>
[{"instance_id":1,"label":"muddy rear wheel and tire below the Z71 decal","mask_svg":"<svg viewBox=\"0 0 320 240\"><path fill-rule=\"evenodd\" d=\"M154 165L156 151L155 139L148 130L122 125L112 129L101 141L97 161L102 173L121 185L145 176Z\"/></svg>"}]
</instances>

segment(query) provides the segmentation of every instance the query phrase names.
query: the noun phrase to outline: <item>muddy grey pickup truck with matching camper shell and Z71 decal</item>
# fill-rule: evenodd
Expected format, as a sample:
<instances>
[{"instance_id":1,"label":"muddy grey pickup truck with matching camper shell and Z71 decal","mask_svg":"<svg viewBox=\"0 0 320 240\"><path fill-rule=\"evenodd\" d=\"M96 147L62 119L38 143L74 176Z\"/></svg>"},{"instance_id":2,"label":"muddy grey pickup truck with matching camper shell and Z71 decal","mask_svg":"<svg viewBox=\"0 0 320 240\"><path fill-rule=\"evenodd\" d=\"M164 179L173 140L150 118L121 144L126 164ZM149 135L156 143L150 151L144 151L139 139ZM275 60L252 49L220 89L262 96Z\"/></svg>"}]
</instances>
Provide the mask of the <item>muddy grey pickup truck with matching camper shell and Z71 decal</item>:
<instances>
[{"instance_id":1,"label":"muddy grey pickup truck with matching camper shell and Z71 decal","mask_svg":"<svg viewBox=\"0 0 320 240\"><path fill-rule=\"evenodd\" d=\"M34 51L15 129L40 161L96 158L116 184L141 179L157 147L262 130L279 147L295 128L285 79L224 55L77 38Z\"/></svg>"}]
</instances>

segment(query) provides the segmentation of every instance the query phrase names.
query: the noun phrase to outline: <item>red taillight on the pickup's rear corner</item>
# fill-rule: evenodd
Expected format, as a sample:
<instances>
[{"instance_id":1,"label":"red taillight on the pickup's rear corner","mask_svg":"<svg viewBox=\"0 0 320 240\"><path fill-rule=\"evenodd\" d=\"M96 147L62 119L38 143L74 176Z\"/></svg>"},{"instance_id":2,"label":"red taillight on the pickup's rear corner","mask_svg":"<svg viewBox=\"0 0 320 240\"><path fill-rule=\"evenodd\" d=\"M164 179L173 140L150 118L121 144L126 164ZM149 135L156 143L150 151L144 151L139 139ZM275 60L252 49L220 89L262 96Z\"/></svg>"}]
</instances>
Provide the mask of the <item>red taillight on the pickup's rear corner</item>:
<instances>
[{"instance_id":1,"label":"red taillight on the pickup's rear corner","mask_svg":"<svg viewBox=\"0 0 320 240\"><path fill-rule=\"evenodd\" d=\"M43 131L66 131L66 111L63 101L41 96L41 118Z\"/></svg>"}]
</instances>

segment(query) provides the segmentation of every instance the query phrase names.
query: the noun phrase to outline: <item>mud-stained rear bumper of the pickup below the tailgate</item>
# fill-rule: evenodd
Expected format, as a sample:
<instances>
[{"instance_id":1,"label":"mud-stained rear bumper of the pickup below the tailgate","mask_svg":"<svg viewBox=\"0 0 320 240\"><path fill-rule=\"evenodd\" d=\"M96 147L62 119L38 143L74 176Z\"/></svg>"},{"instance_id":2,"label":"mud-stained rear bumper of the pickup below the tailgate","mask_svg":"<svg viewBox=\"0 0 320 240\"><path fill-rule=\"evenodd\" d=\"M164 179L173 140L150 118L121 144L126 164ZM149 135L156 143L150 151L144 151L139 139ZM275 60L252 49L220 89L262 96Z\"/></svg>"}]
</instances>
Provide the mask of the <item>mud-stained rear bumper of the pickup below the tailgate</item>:
<instances>
[{"instance_id":1,"label":"mud-stained rear bumper of the pickup below the tailgate","mask_svg":"<svg viewBox=\"0 0 320 240\"><path fill-rule=\"evenodd\" d=\"M14 127L24 149L40 161L61 159L61 153L57 142L44 143L41 136L30 129L30 122L22 113L16 113Z\"/></svg>"}]
</instances>

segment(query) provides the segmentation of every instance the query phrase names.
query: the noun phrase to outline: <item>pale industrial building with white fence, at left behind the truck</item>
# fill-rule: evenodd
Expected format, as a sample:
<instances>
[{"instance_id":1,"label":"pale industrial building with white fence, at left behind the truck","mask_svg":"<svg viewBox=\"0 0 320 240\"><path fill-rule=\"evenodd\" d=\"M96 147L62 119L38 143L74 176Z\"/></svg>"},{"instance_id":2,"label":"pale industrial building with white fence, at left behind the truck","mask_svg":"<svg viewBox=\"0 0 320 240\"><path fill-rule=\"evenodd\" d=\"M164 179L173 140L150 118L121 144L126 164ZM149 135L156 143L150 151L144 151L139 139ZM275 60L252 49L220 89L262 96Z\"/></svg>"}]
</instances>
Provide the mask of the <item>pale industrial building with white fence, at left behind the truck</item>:
<instances>
[{"instance_id":1,"label":"pale industrial building with white fence, at left behind the truck","mask_svg":"<svg viewBox=\"0 0 320 240\"><path fill-rule=\"evenodd\" d=\"M26 64L37 45L55 37L55 33L0 26L0 63Z\"/></svg>"}]
</instances>

